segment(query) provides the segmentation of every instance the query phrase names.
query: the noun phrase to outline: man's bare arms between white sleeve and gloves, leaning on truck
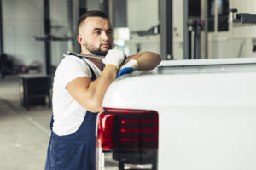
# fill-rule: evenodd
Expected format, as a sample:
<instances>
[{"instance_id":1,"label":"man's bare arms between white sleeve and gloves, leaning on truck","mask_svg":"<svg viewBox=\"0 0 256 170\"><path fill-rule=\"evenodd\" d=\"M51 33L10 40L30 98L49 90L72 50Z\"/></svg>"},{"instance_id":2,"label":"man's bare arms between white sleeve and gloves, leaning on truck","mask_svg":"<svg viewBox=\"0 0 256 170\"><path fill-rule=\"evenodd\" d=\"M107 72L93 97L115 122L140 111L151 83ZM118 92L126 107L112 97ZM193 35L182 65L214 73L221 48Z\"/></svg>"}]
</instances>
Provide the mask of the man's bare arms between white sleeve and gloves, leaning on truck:
<instances>
[{"instance_id":1,"label":"man's bare arms between white sleeve and gloves, leaning on truck","mask_svg":"<svg viewBox=\"0 0 256 170\"><path fill-rule=\"evenodd\" d=\"M151 52L132 55L125 62L128 62L130 59L137 60L139 70L154 69L154 67L159 65L161 60L158 54ZM116 79L117 72L117 67L110 63L105 66L102 75L95 81L92 82L90 77L79 77L67 83L66 89L79 105L82 105L88 111L99 112L102 111L104 95L109 85Z\"/></svg>"}]
</instances>

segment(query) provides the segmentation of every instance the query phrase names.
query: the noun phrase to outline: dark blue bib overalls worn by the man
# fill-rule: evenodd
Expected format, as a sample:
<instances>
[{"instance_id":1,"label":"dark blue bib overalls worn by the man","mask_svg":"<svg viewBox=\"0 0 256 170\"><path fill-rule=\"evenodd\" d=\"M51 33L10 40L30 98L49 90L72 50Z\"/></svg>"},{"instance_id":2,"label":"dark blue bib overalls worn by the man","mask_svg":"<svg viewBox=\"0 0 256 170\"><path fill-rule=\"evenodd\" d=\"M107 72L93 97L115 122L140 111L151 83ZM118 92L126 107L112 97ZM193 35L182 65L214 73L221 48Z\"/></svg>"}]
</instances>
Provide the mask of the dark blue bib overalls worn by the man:
<instances>
[{"instance_id":1,"label":"dark blue bib overalls worn by the man","mask_svg":"<svg viewBox=\"0 0 256 170\"><path fill-rule=\"evenodd\" d=\"M91 67L90 71L91 80L94 81L96 75ZM52 116L51 136L44 170L96 169L96 117L97 113L87 111L84 121L75 133L58 136L52 130Z\"/></svg>"}]
</instances>

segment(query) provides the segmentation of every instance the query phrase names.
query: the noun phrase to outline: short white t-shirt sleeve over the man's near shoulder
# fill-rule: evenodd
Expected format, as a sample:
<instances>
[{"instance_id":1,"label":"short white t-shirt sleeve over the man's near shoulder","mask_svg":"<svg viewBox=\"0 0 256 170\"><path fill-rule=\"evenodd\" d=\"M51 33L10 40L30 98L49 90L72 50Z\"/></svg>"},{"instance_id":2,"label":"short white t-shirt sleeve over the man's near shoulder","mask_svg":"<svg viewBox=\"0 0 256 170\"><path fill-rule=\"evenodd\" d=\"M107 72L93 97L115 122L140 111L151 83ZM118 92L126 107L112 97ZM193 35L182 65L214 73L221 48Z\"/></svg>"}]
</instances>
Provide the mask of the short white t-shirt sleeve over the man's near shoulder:
<instances>
[{"instance_id":1,"label":"short white t-shirt sleeve over the man's near shoulder","mask_svg":"<svg viewBox=\"0 0 256 170\"><path fill-rule=\"evenodd\" d=\"M68 82L78 77L91 77L90 68L84 59L75 56L67 56L62 59L55 72L55 82L65 88Z\"/></svg>"}]
</instances>

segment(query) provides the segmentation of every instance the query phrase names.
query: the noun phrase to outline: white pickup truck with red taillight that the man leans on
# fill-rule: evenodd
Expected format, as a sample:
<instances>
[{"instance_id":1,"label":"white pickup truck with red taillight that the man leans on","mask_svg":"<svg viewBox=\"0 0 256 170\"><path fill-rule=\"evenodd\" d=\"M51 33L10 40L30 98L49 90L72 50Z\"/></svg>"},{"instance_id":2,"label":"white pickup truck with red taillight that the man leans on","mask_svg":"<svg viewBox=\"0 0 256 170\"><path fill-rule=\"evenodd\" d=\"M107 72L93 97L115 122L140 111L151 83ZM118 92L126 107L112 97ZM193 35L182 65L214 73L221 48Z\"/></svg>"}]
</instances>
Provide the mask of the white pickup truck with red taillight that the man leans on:
<instances>
[{"instance_id":1,"label":"white pickup truck with red taillight that the man leans on","mask_svg":"<svg viewBox=\"0 0 256 170\"><path fill-rule=\"evenodd\" d=\"M256 169L255 58L162 61L153 72L108 88L97 170Z\"/></svg>"}]
</instances>

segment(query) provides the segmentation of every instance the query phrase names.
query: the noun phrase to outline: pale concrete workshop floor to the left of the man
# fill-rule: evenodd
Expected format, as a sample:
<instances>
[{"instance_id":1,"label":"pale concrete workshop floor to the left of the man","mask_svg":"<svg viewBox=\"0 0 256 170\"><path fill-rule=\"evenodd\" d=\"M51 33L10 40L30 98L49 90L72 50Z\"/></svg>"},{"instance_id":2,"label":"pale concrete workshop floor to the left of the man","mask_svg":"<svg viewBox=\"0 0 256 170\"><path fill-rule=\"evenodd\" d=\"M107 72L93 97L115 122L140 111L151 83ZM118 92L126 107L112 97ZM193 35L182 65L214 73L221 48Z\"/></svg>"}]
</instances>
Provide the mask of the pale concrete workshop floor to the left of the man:
<instances>
[{"instance_id":1,"label":"pale concrete workshop floor to the left of the man","mask_svg":"<svg viewBox=\"0 0 256 170\"><path fill-rule=\"evenodd\" d=\"M0 169L44 169L51 109L20 105L19 78L0 79Z\"/></svg>"}]
</instances>

